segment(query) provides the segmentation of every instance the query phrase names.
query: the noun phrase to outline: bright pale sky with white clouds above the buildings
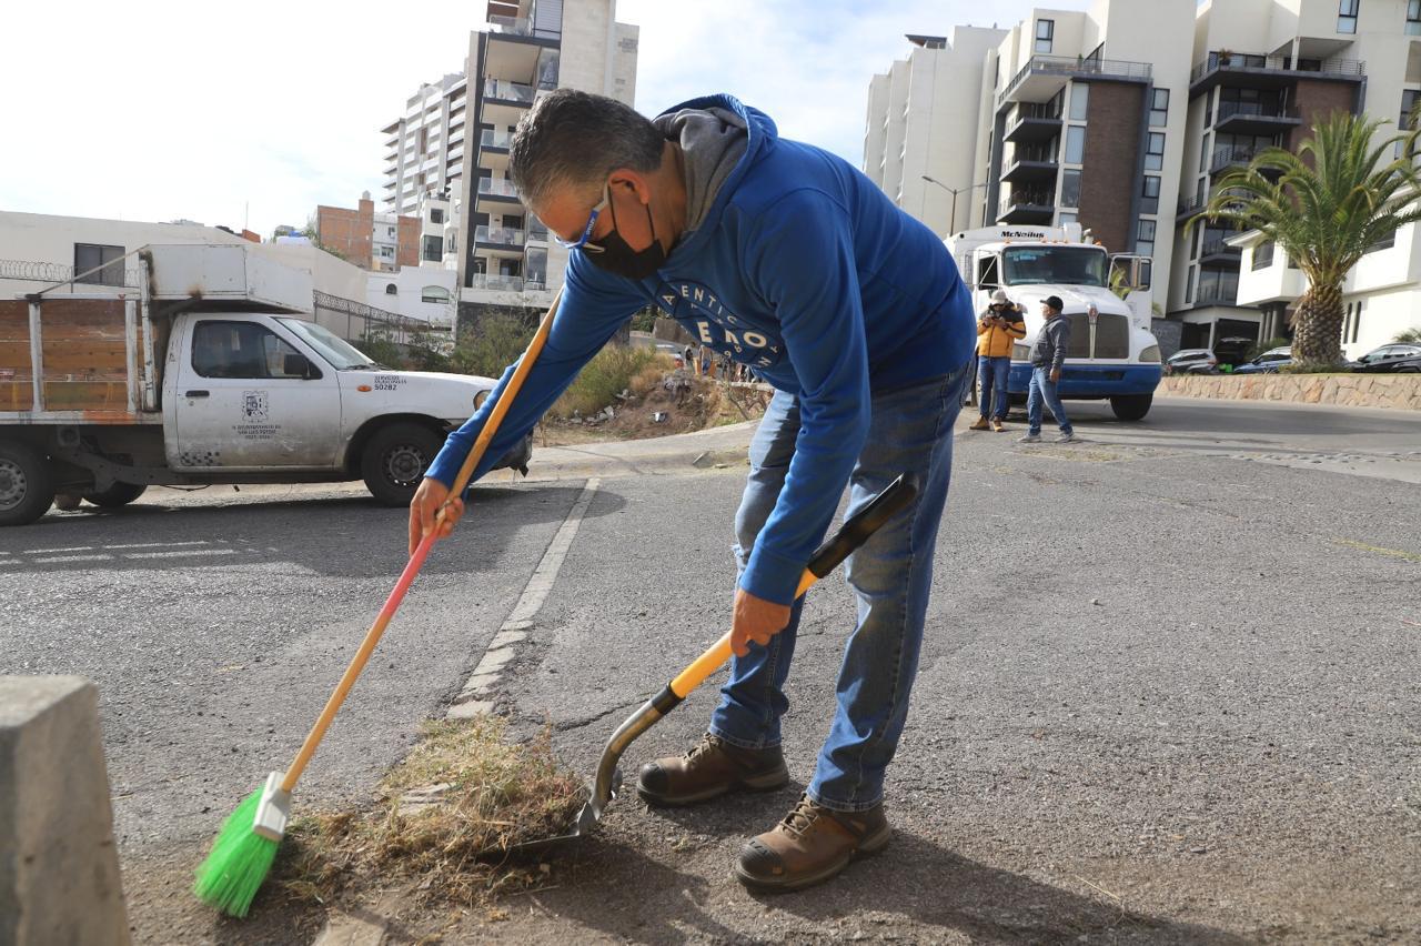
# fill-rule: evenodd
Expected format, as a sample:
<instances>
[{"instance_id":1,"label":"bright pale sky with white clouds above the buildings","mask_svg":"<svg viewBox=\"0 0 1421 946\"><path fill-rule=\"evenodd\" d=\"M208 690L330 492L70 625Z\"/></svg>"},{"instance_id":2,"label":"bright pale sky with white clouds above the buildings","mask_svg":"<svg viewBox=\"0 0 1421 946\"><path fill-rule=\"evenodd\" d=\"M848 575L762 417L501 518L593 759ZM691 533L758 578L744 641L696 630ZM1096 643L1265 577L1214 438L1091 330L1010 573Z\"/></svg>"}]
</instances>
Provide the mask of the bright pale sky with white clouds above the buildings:
<instances>
[{"instance_id":1,"label":"bright pale sky with white clouds above the buildings","mask_svg":"<svg viewBox=\"0 0 1421 946\"><path fill-rule=\"evenodd\" d=\"M566 0L577 3L578 0ZM0 55L0 210L189 219L270 236L381 193L379 129L463 70L486 4L24 0ZM858 166L868 81L904 34L1002 27L1029 0L620 0L637 108L728 91ZM1054 0L1086 9L1088 0Z\"/></svg>"}]
</instances>

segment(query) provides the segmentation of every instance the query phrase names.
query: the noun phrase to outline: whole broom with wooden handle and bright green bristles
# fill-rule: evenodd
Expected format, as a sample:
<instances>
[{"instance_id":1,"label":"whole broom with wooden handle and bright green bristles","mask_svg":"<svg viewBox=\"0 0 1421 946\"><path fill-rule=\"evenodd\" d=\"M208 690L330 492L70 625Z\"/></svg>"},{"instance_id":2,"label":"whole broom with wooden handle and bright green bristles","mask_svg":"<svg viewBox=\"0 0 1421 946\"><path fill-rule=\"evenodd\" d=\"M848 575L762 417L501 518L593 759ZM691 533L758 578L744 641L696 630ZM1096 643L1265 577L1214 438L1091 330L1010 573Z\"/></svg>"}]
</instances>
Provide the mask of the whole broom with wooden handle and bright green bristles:
<instances>
[{"instance_id":1,"label":"whole broom with wooden handle and bright green bristles","mask_svg":"<svg viewBox=\"0 0 1421 946\"><path fill-rule=\"evenodd\" d=\"M415 553L409 557L409 562L405 564L405 570L395 582L395 589L389 592L389 598L385 599L385 607L379 609L375 624L371 625L365 634L365 639L361 641L360 649L355 651L350 666L345 668L345 673L335 686L335 692L331 693L331 699L325 702L325 709L317 717L315 726L311 727L311 732L306 736L306 741L301 743L301 750L296 754L291 767L286 770L286 774L274 771L267 776L266 784L242 800L242 804L227 817L222 825L222 831L213 839L212 851L209 851L207 859L198 868L196 882L193 884L193 893L209 906L215 906L232 916L247 915L252 898L256 896L267 874L271 871L277 847L286 834L286 822L291 811L291 790L296 788L296 781L301 777L306 764L315 753L315 747L325 736L331 720L335 719L335 713L345 700L345 695L350 693L351 686L355 685L355 679L365 669L365 662L369 660L369 655L375 651L375 645L379 643L381 635L395 616L395 611L399 609L399 604L405 599L405 592L409 591L415 575L423 567L425 558L429 555L429 550L433 547L435 537L439 533L439 523L443 521L445 509L455 497L463 493L465 486L468 486L469 479L473 476L475 467L483 457L485 450L487 450L489 442L497 432L499 425L503 423L503 416L509 412L509 405L513 403L513 398L517 396L519 389L523 386L523 381L527 378L529 371L531 371L533 362L537 361L539 354L543 351L543 344L553 328L553 318L557 315L560 301L561 291L553 300L553 307L547 310L547 315L543 317L543 322L533 335L533 341L529 342L527 351L523 352L523 359L514 369L497 403L493 405L493 411L489 413L483 430L479 432L473 449L469 450L463 466L459 467L459 474L449 490L449 500L439 507L435 527L421 540Z\"/></svg>"}]
</instances>

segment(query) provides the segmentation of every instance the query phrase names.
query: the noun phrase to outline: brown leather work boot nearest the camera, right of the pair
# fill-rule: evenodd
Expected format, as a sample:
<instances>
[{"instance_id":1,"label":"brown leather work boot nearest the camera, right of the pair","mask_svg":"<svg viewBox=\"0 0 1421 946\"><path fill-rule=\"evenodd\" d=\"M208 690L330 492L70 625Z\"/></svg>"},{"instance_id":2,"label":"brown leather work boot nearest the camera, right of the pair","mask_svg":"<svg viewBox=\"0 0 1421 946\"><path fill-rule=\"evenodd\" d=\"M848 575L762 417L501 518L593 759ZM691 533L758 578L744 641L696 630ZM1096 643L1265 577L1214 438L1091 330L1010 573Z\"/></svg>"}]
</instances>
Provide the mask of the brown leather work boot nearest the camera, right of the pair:
<instances>
[{"instance_id":1,"label":"brown leather work boot nearest the camera, right of the pair","mask_svg":"<svg viewBox=\"0 0 1421 946\"><path fill-rule=\"evenodd\" d=\"M878 854L890 837L882 805L831 811L800 795L784 821L745 845L735 875L760 893L803 891L834 876L855 857Z\"/></svg>"}]
</instances>

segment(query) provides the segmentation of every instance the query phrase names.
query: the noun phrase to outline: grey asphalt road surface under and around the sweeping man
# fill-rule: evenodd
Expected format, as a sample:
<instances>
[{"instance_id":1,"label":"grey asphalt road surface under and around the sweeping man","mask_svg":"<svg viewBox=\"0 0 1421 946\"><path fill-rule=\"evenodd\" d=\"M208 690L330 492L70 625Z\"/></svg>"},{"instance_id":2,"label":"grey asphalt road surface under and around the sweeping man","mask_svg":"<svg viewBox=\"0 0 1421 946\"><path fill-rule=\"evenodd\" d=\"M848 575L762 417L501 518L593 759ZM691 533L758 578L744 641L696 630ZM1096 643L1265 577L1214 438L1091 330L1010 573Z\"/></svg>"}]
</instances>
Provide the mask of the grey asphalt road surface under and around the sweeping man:
<instances>
[{"instance_id":1,"label":"grey asphalt road surface under and around the sweeping man","mask_svg":"<svg viewBox=\"0 0 1421 946\"><path fill-rule=\"evenodd\" d=\"M1023 447L1015 423L959 437L888 852L793 898L729 878L811 774L850 631L830 580L791 678L793 790L675 814L622 797L526 915L470 933L1421 937L1421 418L1167 401L1124 425L1067 406L1086 443ZM368 798L581 486L480 487L303 800ZM550 720L591 773L621 716L723 631L740 486L733 467L603 479L500 687L520 727ZM148 865L189 864L287 763L404 564L402 513L354 489L209 493L0 533L0 673L98 683L139 942L213 936L180 906L180 871L159 884ZM627 766L681 751L713 699L692 696Z\"/></svg>"}]
</instances>

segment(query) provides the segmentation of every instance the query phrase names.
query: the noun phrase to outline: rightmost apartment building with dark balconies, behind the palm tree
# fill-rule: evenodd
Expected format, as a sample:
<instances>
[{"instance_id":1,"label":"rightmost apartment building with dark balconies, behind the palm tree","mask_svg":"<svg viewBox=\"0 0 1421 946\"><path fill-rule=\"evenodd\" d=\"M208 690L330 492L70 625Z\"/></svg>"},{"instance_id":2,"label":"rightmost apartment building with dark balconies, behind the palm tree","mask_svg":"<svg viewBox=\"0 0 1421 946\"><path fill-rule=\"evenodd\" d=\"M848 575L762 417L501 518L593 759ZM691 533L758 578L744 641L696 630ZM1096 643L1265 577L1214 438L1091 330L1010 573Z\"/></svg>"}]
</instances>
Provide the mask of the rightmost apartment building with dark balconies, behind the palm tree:
<instances>
[{"instance_id":1,"label":"rightmost apartment building with dark balconies, behind the palm tree","mask_svg":"<svg viewBox=\"0 0 1421 946\"><path fill-rule=\"evenodd\" d=\"M1218 338L1290 335L1302 274L1282 251L1248 249L1198 217L1219 178L1268 146L1295 149L1336 111L1388 119L1393 134L1421 97L1421 0L1209 0L1199 7L1189 74L1189 126L1175 219L1169 312L1185 347ZM1417 320L1398 294L1414 280L1411 239L1398 234L1349 278L1344 348L1361 354ZM1255 268L1256 267L1256 268ZM1368 307L1366 297L1380 293ZM1353 314L1367 311L1367 328ZM1256 335L1255 335L1256 334Z\"/></svg>"}]
</instances>

